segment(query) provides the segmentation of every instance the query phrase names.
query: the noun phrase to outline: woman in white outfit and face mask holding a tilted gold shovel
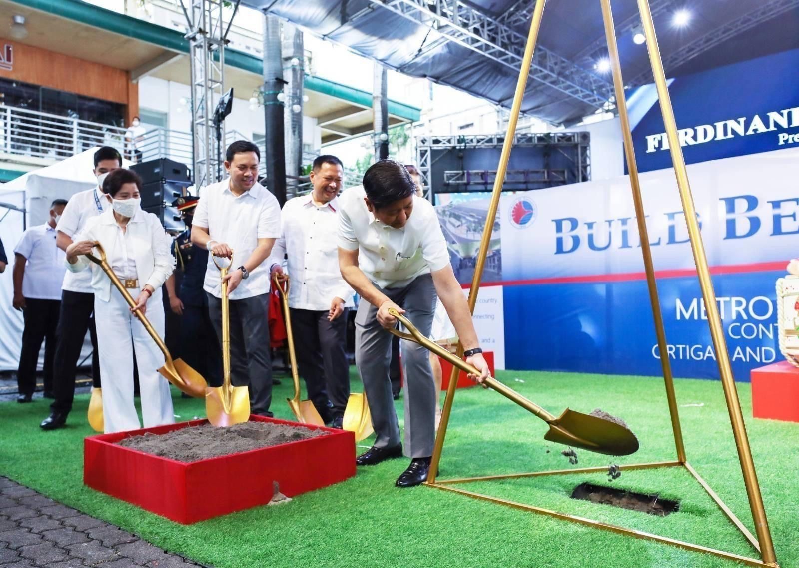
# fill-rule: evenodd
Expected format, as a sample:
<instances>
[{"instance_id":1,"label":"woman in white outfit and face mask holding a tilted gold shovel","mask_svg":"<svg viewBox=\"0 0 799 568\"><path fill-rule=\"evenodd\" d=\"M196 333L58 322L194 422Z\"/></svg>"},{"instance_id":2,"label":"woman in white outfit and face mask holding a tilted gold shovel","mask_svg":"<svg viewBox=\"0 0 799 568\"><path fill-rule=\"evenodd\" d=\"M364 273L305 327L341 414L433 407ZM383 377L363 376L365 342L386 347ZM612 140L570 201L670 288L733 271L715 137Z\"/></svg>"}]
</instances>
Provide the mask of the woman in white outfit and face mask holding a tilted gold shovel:
<instances>
[{"instance_id":1,"label":"woman in white outfit and face mask holding a tilted gold shovel","mask_svg":"<svg viewBox=\"0 0 799 568\"><path fill-rule=\"evenodd\" d=\"M140 207L141 179L128 169L117 169L105 178L103 190L112 197L112 207L93 217L66 249L67 268L78 272L90 268L94 291L94 319L103 380L105 433L141 427L133 403L133 352L139 367L141 414L144 426L175 421L169 383L158 374L164 355L133 314L125 298L102 268L85 255L95 241L102 244L108 264L129 288L136 308L145 312L156 332L164 335L164 304L161 285L172 274L175 259L172 240L161 221Z\"/></svg>"}]
</instances>

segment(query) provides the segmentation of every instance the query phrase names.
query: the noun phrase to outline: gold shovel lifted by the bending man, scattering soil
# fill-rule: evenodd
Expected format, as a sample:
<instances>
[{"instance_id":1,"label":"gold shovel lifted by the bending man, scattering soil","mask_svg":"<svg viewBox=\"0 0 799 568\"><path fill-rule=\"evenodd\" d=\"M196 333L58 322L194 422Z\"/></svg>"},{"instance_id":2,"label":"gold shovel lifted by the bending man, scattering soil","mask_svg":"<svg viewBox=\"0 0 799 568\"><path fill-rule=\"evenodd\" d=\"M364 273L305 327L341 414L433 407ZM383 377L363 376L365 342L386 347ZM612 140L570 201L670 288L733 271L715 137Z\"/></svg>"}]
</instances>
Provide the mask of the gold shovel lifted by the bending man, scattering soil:
<instances>
[{"instance_id":1,"label":"gold shovel lifted by the bending man, scattering soil","mask_svg":"<svg viewBox=\"0 0 799 568\"><path fill-rule=\"evenodd\" d=\"M475 367L419 333L419 330L413 327L413 324L394 308L389 308L388 312L396 317L400 324L403 324L410 333L403 333L397 329L390 329L388 330L389 332L403 338L403 340L413 341L423 348L427 348L429 351L434 352L435 355L447 359L447 361L455 365L455 367L459 367L462 371L474 375L480 374ZM608 415L604 413L601 416L594 416L566 408L559 417L555 418L554 415L551 415L542 407L527 400L511 387L505 386L492 377L486 379L483 384L493 388L505 398L511 399L527 411L531 411L549 424L550 429L544 435L545 440L562 443L566 446L580 447L583 450L595 451L598 454L630 455L638 451L638 439L635 435L627 427L607 418L606 416Z\"/></svg>"}]
</instances>

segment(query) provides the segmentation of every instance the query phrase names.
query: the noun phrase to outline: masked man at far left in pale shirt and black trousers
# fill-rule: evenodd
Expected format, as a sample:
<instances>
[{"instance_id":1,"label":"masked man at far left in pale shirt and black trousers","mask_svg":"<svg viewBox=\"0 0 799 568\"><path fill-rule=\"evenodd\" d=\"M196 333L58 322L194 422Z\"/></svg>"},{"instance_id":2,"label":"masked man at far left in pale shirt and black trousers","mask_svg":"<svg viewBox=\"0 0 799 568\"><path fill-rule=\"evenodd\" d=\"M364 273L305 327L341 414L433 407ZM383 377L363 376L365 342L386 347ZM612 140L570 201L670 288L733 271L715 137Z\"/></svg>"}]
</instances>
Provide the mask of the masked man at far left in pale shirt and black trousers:
<instances>
[{"instance_id":1,"label":"masked man at far left in pale shirt and black trousers","mask_svg":"<svg viewBox=\"0 0 799 568\"><path fill-rule=\"evenodd\" d=\"M30 403L33 399L42 341L45 342L45 398L53 398L55 332L66 272L64 251L55 244L55 228L66 203L65 199L53 201L50 219L26 229L14 247L14 309L21 311L25 320L17 371L18 403Z\"/></svg>"}]
</instances>

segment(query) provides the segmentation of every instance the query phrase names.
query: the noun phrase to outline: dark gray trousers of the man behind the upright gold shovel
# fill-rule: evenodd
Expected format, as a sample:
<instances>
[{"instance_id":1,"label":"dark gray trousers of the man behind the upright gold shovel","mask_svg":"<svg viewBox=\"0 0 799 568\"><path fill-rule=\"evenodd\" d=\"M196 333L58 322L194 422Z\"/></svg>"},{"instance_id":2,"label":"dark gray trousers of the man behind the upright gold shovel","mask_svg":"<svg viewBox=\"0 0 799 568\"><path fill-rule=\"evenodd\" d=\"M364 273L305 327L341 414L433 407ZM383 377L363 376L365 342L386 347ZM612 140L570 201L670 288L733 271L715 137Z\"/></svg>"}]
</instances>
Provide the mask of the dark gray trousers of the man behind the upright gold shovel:
<instances>
[{"instance_id":1,"label":"dark gray trousers of the man behind the upright gold shovel","mask_svg":"<svg viewBox=\"0 0 799 568\"><path fill-rule=\"evenodd\" d=\"M222 345L222 300L208 296L208 312ZM268 294L229 300L230 382L250 387L252 414L268 414L272 404L272 356L269 353Z\"/></svg>"}]
</instances>

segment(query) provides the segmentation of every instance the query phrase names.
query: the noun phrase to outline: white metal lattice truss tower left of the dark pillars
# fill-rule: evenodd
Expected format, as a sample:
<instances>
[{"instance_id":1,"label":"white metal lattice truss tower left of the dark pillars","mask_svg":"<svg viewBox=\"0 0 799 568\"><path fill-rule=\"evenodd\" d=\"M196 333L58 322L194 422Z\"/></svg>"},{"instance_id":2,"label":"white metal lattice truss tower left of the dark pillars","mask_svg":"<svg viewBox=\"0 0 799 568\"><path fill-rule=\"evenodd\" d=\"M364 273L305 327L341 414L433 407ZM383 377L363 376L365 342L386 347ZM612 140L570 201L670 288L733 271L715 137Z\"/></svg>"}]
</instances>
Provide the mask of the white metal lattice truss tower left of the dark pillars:
<instances>
[{"instance_id":1,"label":"white metal lattice truss tower left of the dark pillars","mask_svg":"<svg viewBox=\"0 0 799 568\"><path fill-rule=\"evenodd\" d=\"M225 141L225 123L221 121L220 143L215 133L213 114L215 102L222 97L225 89L225 38L230 24L225 30L222 13L224 4L225 0L191 0L189 11L181 0L183 13L189 23L189 32L185 37L191 46L193 177L196 189L221 179L221 144Z\"/></svg>"}]
</instances>

